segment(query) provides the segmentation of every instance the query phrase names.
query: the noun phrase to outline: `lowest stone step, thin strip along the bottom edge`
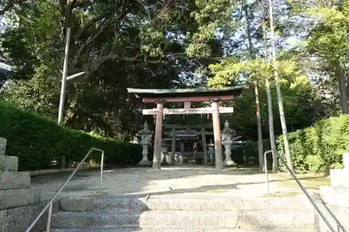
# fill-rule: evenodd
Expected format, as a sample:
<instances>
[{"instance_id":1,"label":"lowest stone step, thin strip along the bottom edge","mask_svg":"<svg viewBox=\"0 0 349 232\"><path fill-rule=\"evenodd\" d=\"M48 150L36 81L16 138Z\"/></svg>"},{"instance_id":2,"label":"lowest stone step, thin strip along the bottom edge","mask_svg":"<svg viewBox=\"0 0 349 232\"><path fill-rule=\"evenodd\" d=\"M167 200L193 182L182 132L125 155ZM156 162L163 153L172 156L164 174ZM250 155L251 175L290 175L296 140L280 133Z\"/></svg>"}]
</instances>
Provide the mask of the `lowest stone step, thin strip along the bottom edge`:
<instances>
[{"instance_id":1,"label":"lowest stone step, thin strip along the bottom edge","mask_svg":"<svg viewBox=\"0 0 349 232\"><path fill-rule=\"evenodd\" d=\"M94 229L52 229L51 232L315 232L315 229L207 229L183 227L119 227L119 228L94 228ZM44 231L43 231L44 232Z\"/></svg>"}]
</instances>

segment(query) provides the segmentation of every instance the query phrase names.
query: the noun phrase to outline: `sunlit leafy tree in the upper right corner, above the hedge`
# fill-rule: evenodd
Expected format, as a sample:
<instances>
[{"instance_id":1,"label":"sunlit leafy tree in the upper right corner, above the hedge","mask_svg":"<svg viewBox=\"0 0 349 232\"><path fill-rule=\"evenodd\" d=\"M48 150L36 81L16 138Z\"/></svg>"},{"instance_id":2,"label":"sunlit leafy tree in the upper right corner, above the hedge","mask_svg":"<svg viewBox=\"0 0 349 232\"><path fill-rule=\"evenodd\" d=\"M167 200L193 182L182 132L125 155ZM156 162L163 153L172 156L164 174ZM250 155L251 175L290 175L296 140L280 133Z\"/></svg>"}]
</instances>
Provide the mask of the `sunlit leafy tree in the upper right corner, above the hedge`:
<instances>
[{"instance_id":1,"label":"sunlit leafy tree in the upper right corner, above the hedge","mask_svg":"<svg viewBox=\"0 0 349 232\"><path fill-rule=\"evenodd\" d=\"M302 30L304 38L304 45L298 48L304 58L308 58L304 68L311 68L315 74L321 74L330 82L332 77L336 79L341 110L343 114L348 114L346 62L349 56L349 1L342 1L339 5L320 1L290 1L290 6L292 15L302 19L295 29Z\"/></svg>"}]
</instances>

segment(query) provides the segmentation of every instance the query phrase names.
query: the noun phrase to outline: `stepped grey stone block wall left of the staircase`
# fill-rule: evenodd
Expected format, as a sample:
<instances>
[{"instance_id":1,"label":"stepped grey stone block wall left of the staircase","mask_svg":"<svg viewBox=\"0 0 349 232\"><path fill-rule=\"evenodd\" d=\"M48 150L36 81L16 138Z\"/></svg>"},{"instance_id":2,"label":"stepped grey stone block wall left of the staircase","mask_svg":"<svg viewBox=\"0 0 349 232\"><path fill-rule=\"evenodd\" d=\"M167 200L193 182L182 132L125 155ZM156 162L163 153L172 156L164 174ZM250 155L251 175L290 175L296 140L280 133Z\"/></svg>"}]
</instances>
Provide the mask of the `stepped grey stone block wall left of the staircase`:
<instances>
[{"instance_id":1,"label":"stepped grey stone block wall left of the staircase","mask_svg":"<svg viewBox=\"0 0 349 232\"><path fill-rule=\"evenodd\" d=\"M6 139L0 138L0 232L24 232L43 210L41 190L30 187L29 172L17 171L18 158L5 155ZM31 231L43 231L42 217Z\"/></svg>"}]
</instances>

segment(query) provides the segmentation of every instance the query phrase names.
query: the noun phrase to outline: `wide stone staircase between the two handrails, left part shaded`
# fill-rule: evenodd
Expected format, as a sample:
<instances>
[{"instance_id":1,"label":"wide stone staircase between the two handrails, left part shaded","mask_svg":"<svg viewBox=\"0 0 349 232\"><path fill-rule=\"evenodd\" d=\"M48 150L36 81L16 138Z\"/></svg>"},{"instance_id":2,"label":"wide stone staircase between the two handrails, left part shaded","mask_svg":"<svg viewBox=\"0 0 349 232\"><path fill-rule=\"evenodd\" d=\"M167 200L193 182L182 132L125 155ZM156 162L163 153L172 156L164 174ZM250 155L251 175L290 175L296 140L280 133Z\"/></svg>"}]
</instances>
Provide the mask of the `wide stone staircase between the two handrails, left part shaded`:
<instances>
[{"instance_id":1,"label":"wide stone staircase between the two handrails, left part shaded","mask_svg":"<svg viewBox=\"0 0 349 232\"><path fill-rule=\"evenodd\" d=\"M53 232L315 231L305 196L87 196L59 203Z\"/></svg>"}]
</instances>

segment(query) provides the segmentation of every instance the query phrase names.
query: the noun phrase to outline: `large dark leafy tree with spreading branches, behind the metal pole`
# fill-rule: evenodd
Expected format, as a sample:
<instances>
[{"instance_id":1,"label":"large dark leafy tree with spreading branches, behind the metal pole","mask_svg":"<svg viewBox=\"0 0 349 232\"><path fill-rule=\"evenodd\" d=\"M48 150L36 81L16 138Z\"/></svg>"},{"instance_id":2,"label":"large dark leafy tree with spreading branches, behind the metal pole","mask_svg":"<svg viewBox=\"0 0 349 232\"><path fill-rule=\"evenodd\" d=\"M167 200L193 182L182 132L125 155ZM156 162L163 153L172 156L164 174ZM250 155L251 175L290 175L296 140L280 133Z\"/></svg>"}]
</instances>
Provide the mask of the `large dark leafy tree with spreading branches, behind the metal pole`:
<instances>
[{"instance_id":1,"label":"large dark leafy tree with spreading branches, behind the metal pole","mask_svg":"<svg viewBox=\"0 0 349 232\"><path fill-rule=\"evenodd\" d=\"M110 136L132 132L142 117L140 102L128 95L126 87L183 86L195 70L212 62L186 56L191 41L184 39L186 33L198 29L191 17L196 8L193 1L121 0L47 0L16 6L7 14L13 26L1 35L1 49L15 82L5 89L6 99L57 117L69 23L68 75L82 70L87 75L68 82L64 123L82 130L97 127ZM221 49L214 40L208 47L219 56ZM47 100L52 107L45 104Z\"/></svg>"}]
</instances>

